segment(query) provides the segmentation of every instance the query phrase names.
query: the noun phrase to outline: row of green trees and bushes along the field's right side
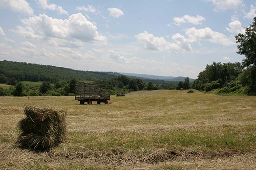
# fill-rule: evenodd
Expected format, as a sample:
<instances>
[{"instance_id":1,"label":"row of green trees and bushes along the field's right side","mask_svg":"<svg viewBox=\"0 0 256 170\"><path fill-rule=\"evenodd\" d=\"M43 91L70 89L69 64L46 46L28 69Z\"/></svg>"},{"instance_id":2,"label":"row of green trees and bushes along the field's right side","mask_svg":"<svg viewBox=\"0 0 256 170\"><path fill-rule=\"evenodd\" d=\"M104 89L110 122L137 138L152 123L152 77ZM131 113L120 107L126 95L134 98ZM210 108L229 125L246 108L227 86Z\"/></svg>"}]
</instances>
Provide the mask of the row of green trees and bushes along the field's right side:
<instances>
[{"instance_id":1,"label":"row of green trees and bushes along the field's right side","mask_svg":"<svg viewBox=\"0 0 256 170\"><path fill-rule=\"evenodd\" d=\"M253 94L256 91L256 17L244 34L236 36L238 54L244 55L242 63L213 62L206 65L193 83L197 90L227 94Z\"/></svg>"}]
</instances>

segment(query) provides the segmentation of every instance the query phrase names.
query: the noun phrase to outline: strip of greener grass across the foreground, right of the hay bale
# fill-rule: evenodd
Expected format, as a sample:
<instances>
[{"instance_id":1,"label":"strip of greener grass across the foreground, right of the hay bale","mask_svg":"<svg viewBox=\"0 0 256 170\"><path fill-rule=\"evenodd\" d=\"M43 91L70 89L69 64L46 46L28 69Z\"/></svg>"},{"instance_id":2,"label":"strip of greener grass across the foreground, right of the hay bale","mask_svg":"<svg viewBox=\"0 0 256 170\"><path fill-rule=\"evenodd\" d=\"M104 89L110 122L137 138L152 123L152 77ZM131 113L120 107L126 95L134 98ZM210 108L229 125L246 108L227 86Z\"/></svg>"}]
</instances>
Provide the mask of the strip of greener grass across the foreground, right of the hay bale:
<instances>
[{"instance_id":1,"label":"strip of greener grass across the foreground, right of the hay bale","mask_svg":"<svg viewBox=\"0 0 256 170\"><path fill-rule=\"evenodd\" d=\"M139 132L106 132L102 134L75 132L69 133L69 139L82 147L92 150L110 150L123 147L129 150L141 148L177 148L203 147L221 151L223 148L243 152L255 148L255 135L241 136L234 134L211 134L189 131L172 131L169 133L139 133Z\"/></svg>"}]
</instances>

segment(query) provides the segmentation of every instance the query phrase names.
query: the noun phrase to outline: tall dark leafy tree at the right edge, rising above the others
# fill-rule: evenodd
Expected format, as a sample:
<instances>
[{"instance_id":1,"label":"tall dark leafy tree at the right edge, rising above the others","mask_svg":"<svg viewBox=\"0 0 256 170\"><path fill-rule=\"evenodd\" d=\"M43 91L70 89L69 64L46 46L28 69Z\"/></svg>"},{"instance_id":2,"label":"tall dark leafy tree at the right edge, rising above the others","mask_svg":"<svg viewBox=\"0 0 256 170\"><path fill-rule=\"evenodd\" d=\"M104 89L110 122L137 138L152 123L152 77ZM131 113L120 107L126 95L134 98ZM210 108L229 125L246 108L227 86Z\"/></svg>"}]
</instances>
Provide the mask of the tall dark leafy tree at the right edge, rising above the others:
<instances>
[{"instance_id":1,"label":"tall dark leafy tree at the right edge, rising above the others","mask_svg":"<svg viewBox=\"0 0 256 170\"><path fill-rule=\"evenodd\" d=\"M256 91L256 17L253 18L252 25L246 27L244 34L236 36L238 54L244 55L243 65L249 69L249 86Z\"/></svg>"}]
</instances>

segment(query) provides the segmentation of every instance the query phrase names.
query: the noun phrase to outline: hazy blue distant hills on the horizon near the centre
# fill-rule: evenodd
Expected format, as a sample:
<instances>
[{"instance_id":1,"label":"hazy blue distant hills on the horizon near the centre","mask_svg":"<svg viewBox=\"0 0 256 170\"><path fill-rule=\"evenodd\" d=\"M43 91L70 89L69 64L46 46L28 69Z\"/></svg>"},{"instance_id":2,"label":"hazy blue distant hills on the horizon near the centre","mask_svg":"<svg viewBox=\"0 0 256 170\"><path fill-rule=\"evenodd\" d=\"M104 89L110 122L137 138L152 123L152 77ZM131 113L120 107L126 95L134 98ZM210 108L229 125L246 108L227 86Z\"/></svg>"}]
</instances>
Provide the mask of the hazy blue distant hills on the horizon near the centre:
<instances>
[{"instance_id":1,"label":"hazy blue distant hills on the horizon near the centre","mask_svg":"<svg viewBox=\"0 0 256 170\"><path fill-rule=\"evenodd\" d=\"M166 81L183 81L185 77L173 77L173 76L154 76L154 75L146 75L146 74L135 74L135 73L126 73L126 72L118 72L121 75L125 75L127 77L137 77L143 79L153 79L153 80L166 80ZM193 82L195 79L190 79L190 82Z\"/></svg>"}]
</instances>

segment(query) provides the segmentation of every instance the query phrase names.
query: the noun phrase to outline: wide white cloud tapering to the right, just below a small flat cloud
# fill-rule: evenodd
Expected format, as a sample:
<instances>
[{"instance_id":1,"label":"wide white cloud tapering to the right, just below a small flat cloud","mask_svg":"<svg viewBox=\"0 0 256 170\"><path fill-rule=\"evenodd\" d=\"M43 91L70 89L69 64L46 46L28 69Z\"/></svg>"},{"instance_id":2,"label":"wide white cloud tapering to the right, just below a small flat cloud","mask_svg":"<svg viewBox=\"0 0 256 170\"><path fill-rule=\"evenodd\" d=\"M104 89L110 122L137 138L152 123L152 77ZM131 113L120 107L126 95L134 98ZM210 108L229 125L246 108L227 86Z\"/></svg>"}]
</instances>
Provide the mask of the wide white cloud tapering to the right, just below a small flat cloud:
<instances>
[{"instance_id":1,"label":"wide white cloud tapering to the right, just below a small flat cloud","mask_svg":"<svg viewBox=\"0 0 256 170\"><path fill-rule=\"evenodd\" d=\"M206 40L222 45L233 45L234 42L226 35L212 31L210 28L196 29L195 27L190 28L186 31L189 41L197 42L199 40Z\"/></svg>"}]
</instances>

